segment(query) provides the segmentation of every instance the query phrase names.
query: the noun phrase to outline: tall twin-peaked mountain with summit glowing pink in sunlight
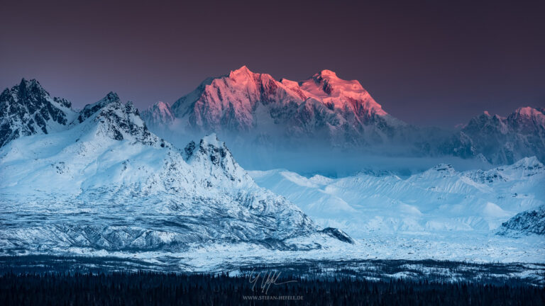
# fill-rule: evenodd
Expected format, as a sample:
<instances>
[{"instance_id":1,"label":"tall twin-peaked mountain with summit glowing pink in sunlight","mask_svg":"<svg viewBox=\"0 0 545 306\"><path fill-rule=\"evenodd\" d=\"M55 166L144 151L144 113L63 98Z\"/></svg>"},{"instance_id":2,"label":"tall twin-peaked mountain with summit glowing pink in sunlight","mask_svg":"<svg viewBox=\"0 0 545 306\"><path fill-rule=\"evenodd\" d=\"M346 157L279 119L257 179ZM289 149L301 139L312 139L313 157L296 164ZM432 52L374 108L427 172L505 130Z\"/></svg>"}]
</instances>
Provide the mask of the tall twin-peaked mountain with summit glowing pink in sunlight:
<instances>
[{"instance_id":1,"label":"tall twin-peaked mountain with summit glowing pink in sunlight","mask_svg":"<svg viewBox=\"0 0 545 306\"><path fill-rule=\"evenodd\" d=\"M165 117L161 108L149 118ZM244 135L251 141L325 140L331 145L363 145L390 140L404 126L373 100L358 81L323 70L304 81L275 80L246 66L205 80L172 104L183 132ZM150 120L152 128L171 124ZM288 137L289 136L289 137ZM287 137L287 139L285 139Z\"/></svg>"}]
</instances>

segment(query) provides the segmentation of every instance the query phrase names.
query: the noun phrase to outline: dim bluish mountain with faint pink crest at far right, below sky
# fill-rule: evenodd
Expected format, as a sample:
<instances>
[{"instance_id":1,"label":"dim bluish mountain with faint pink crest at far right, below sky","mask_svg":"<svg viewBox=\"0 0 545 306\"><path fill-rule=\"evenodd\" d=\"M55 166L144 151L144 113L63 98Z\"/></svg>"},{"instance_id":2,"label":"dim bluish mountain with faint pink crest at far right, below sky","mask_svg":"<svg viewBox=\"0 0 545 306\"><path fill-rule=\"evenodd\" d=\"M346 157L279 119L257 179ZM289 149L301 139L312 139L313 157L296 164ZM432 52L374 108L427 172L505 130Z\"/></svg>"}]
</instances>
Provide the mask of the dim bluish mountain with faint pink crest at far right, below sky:
<instances>
[{"instance_id":1,"label":"dim bluish mountain with faint pink crest at far right, below sky","mask_svg":"<svg viewBox=\"0 0 545 306\"><path fill-rule=\"evenodd\" d=\"M518 108L507 117L485 112L444 142L445 154L483 156L492 164L512 164L522 157L545 160L545 109Z\"/></svg>"}]
</instances>

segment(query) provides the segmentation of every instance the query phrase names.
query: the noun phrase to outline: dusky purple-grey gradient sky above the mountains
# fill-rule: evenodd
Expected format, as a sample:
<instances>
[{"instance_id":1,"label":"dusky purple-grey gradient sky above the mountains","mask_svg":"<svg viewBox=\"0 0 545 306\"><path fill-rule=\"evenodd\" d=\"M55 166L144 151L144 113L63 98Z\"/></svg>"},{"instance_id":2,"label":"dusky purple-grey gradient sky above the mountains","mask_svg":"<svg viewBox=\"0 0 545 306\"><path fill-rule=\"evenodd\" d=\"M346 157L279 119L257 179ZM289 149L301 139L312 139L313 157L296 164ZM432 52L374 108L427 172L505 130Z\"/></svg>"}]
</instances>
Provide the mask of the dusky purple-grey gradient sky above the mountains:
<instances>
[{"instance_id":1,"label":"dusky purple-grey gradient sky above the mountains","mask_svg":"<svg viewBox=\"0 0 545 306\"><path fill-rule=\"evenodd\" d=\"M108 91L172 103L246 64L331 69L388 113L449 127L545 106L545 1L4 1L0 87L38 79L76 107Z\"/></svg>"}]
</instances>

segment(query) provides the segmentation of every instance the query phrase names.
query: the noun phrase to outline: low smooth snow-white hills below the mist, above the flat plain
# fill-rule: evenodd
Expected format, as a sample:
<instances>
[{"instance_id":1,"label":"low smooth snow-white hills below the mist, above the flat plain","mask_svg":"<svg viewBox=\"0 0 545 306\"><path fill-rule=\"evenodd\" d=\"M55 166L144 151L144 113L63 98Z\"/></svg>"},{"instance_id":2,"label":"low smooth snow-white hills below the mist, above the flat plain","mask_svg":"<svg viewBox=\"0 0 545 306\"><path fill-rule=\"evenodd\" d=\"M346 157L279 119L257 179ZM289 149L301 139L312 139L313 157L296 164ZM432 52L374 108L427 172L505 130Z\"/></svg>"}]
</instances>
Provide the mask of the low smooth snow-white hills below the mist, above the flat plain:
<instances>
[{"instance_id":1,"label":"low smooth snow-white hills below the mist, above the flat plain","mask_svg":"<svg viewBox=\"0 0 545 306\"><path fill-rule=\"evenodd\" d=\"M319 225L353 237L380 233L493 234L519 212L545 204L545 167L535 157L488 171L440 164L402 179L395 174L307 178L285 170L251 171L258 185L285 196Z\"/></svg>"}]
</instances>

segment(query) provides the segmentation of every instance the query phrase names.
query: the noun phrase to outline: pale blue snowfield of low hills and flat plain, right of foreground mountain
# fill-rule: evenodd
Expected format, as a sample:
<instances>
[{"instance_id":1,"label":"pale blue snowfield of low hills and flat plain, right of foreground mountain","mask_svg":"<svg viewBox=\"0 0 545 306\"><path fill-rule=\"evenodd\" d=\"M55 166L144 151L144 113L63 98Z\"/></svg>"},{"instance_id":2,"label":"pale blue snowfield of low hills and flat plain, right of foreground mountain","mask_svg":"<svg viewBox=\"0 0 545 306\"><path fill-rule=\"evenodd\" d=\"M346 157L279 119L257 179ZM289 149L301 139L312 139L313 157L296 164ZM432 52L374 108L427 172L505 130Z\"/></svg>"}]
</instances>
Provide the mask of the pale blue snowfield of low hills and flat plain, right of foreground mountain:
<instances>
[{"instance_id":1,"label":"pale blue snowfield of low hills and flat plain, right of foreground mountain","mask_svg":"<svg viewBox=\"0 0 545 306\"><path fill-rule=\"evenodd\" d=\"M441 164L408 178L372 172L307 178L282 169L249 173L319 226L355 238L358 244L340 252L346 258L545 262L542 234L497 234L517 213L545 204L545 167L535 157L488 171L458 172ZM528 219L530 225L537 224L534 219Z\"/></svg>"}]
</instances>

